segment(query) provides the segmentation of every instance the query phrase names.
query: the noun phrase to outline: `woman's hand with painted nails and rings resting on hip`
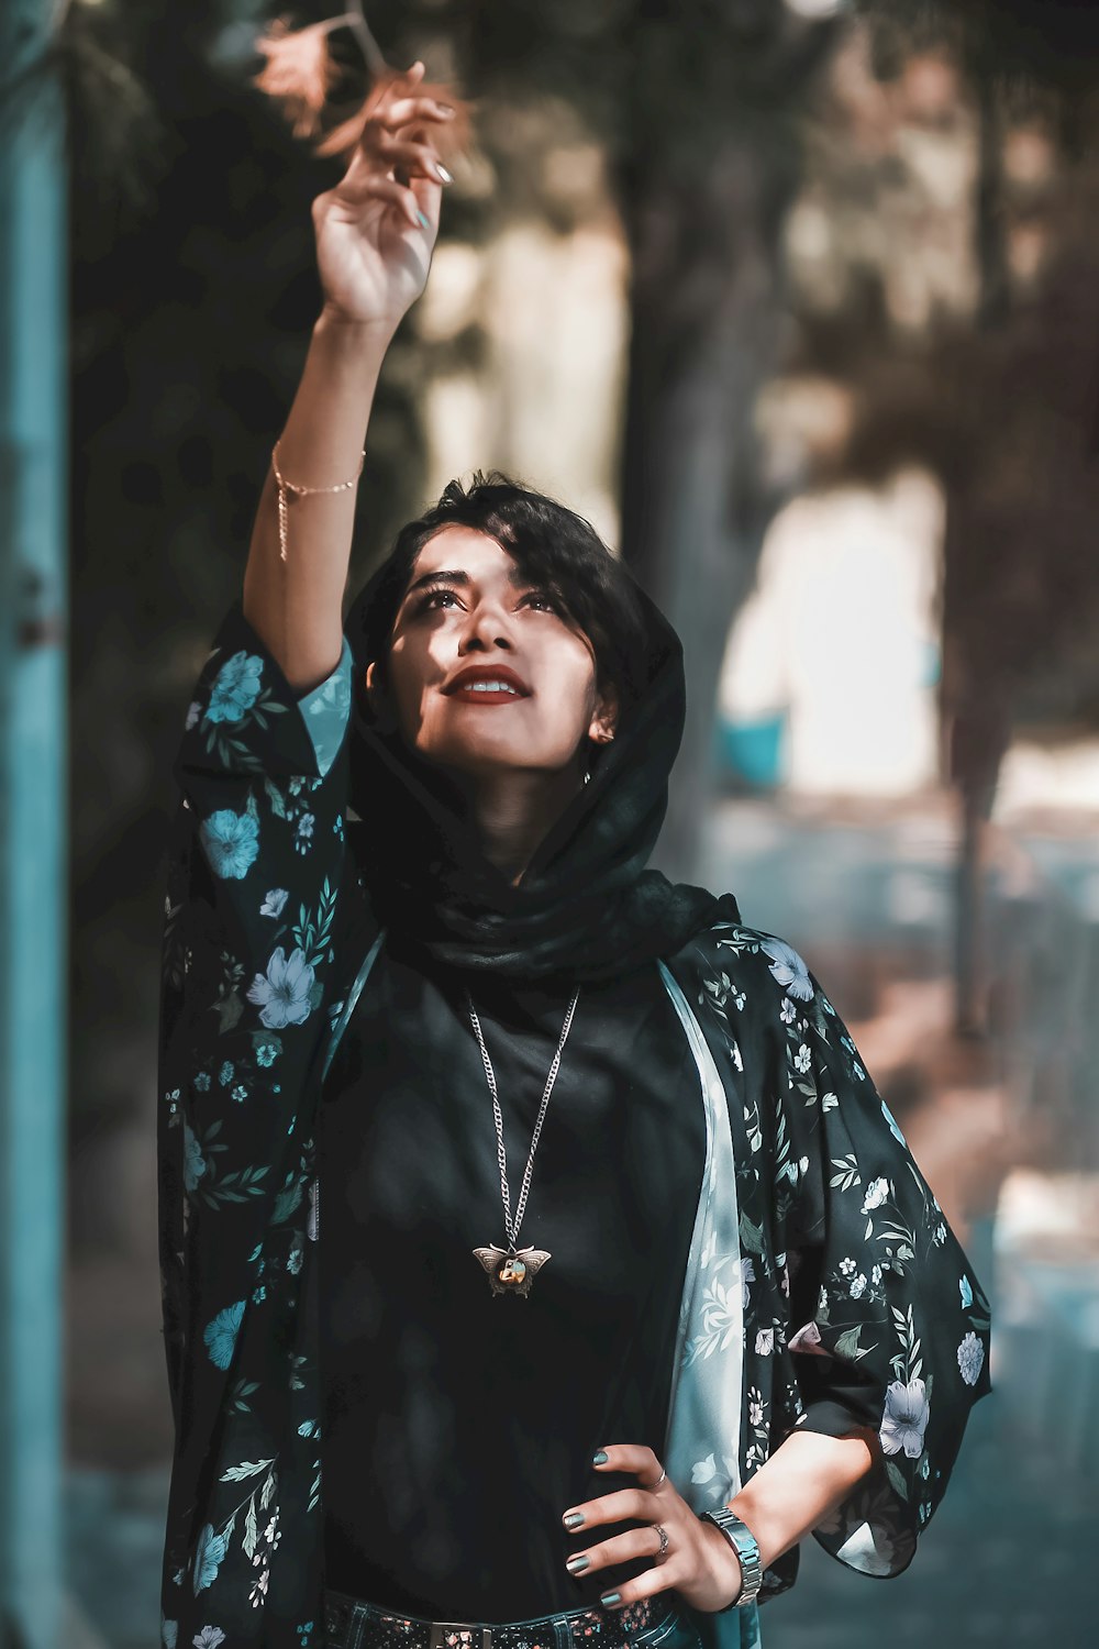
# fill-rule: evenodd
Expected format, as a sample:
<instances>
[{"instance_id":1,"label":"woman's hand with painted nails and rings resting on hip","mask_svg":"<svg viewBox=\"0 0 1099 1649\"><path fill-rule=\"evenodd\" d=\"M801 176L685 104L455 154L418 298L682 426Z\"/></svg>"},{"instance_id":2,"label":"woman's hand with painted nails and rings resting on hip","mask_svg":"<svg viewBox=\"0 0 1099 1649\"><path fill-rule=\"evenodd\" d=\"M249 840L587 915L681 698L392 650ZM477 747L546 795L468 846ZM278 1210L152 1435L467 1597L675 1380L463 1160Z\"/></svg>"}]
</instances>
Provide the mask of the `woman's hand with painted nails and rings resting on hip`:
<instances>
[{"instance_id":1,"label":"woman's hand with painted nails and rings resting on hip","mask_svg":"<svg viewBox=\"0 0 1099 1649\"><path fill-rule=\"evenodd\" d=\"M687 1506L671 1478L664 1478L659 1487L646 1487L646 1484L654 1484L662 1471L659 1459L646 1445L615 1443L606 1445L605 1453L606 1461L596 1466L596 1471L636 1473L639 1486L603 1494L598 1501L582 1501L580 1506L570 1506L562 1514L562 1524L567 1517L582 1512L583 1522L568 1529L568 1534L587 1535L588 1529L598 1529L600 1524L620 1524L628 1517L636 1517L644 1527L629 1529L610 1540L587 1545L573 1552L568 1563L587 1557L588 1562L582 1573L595 1575L631 1558L651 1557L656 1560L661 1537L652 1524L659 1524L667 1532L667 1553L662 1562L654 1562L652 1568L634 1580L621 1581L621 1585L615 1581L613 1575L608 1575L601 1596L618 1593L618 1603L611 1603L608 1608L620 1608L641 1598L652 1598L657 1591L671 1590L676 1590L684 1603L704 1613L723 1609L727 1603L732 1603L740 1595L740 1562L722 1530L704 1522ZM575 1573L573 1568L568 1571Z\"/></svg>"}]
</instances>

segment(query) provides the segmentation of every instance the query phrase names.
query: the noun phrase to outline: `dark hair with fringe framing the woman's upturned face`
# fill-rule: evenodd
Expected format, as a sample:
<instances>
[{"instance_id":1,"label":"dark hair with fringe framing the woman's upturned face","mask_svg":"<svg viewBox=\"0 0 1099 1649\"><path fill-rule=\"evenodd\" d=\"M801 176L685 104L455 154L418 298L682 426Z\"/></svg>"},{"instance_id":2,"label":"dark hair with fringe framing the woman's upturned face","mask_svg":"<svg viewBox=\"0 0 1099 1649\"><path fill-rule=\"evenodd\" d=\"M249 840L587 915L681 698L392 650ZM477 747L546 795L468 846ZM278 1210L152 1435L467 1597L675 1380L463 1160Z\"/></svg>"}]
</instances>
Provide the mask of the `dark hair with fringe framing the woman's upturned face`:
<instances>
[{"instance_id":1,"label":"dark hair with fringe framing the woman's upturned face","mask_svg":"<svg viewBox=\"0 0 1099 1649\"><path fill-rule=\"evenodd\" d=\"M590 521L511 480L501 470L473 473L470 486L448 482L438 503L407 521L392 551L349 613L349 640L361 668L384 674L394 620L415 559L443 526L471 526L494 538L522 576L549 590L592 643L600 688L615 688L626 711L648 679L646 625L638 587ZM366 594L366 592L364 592Z\"/></svg>"}]
</instances>

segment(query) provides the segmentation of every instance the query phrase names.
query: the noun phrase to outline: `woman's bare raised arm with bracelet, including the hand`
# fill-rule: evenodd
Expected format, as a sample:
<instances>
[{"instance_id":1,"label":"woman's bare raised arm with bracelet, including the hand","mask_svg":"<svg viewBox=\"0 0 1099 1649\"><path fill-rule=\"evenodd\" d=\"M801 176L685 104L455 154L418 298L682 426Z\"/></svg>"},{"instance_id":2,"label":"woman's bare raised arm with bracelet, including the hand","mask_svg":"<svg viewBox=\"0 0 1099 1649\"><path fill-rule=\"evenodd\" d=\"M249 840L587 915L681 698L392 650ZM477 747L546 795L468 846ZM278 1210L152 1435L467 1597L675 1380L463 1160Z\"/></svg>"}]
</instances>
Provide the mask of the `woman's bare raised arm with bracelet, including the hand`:
<instances>
[{"instance_id":1,"label":"woman's bare raised arm with bracelet, including the hand","mask_svg":"<svg viewBox=\"0 0 1099 1649\"><path fill-rule=\"evenodd\" d=\"M311 490L356 477L382 359L427 284L442 183L450 181L432 130L451 114L415 96L422 78L417 63L410 96L386 92L344 176L313 203L325 303L278 440L282 477L310 491L287 491L283 561L269 467L244 574L244 617L297 693L339 663L354 521L354 486Z\"/></svg>"}]
</instances>

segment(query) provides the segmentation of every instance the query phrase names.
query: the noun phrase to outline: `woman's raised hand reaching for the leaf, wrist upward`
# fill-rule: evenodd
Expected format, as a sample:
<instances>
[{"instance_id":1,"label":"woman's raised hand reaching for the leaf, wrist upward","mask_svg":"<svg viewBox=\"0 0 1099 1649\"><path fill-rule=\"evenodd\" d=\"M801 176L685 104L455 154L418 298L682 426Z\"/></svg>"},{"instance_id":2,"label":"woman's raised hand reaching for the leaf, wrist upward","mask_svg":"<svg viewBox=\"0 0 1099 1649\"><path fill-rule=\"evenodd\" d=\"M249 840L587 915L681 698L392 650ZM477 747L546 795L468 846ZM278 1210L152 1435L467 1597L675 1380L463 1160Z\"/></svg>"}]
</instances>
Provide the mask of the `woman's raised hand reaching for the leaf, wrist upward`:
<instances>
[{"instance_id":1,"label":"woman's raised hand reaching for the leaf, wrist upward","mask_svg":"<svg viewBox=\"0 0 1099 1649\"><path fill-rule=\"evenodd\" d=\"M430 134L453 112L415 96L422 79L423 64L414 63L384 89L344 176L313 201L325 310L336 320L395 328L427 284L451 181Z\"/></svg>"}]
</instances>

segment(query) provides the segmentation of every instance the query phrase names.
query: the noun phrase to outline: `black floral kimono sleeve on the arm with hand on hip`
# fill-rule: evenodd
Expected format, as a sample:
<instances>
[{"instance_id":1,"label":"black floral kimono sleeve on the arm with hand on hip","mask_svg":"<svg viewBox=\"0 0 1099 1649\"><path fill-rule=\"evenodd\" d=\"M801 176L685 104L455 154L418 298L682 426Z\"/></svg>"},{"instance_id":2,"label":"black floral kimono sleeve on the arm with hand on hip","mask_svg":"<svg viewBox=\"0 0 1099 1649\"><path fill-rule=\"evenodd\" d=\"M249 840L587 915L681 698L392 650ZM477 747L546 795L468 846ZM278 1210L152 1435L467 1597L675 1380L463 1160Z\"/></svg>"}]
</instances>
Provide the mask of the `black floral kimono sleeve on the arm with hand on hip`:
<instances>
[{"instance_id":1,"label":"black floral kimono sleeve on the arm with hand on hip","mask_svg":"<svg viewBox=\"0 0 1099 1649\"><path fill-rule=\"evenodd\" d=\"M882 1445L880 1468L814 1535L855 1570L898 1575L990 1390L989 1301L817 978L774 937L761 951L779 991L797 1425L835 1435L847 1408Z\"/></svg>"}]
</instances>

